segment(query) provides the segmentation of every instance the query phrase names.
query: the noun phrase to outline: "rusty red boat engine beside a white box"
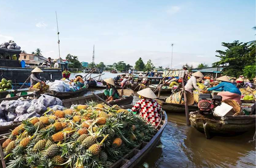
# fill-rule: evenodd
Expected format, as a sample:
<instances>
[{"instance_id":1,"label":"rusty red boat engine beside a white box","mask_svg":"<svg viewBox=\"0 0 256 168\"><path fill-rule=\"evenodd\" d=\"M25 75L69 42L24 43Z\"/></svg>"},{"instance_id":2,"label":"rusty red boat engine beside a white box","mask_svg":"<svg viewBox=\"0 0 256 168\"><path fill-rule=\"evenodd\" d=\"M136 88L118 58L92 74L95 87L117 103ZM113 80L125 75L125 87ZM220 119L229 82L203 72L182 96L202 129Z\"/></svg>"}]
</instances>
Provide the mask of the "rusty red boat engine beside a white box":
<instances>
[{"instance_id":1,"label":"rusty red boat engine beside a white box","mask_svg":"<svg viewBox=\"0 0 256 168\"><path fill-rule=\"evenodd\" d=\"M200 112L212 112L212 109L221 104L222 97L211 94L199 94L198 109Z\"/></svg>"}]
</instances>

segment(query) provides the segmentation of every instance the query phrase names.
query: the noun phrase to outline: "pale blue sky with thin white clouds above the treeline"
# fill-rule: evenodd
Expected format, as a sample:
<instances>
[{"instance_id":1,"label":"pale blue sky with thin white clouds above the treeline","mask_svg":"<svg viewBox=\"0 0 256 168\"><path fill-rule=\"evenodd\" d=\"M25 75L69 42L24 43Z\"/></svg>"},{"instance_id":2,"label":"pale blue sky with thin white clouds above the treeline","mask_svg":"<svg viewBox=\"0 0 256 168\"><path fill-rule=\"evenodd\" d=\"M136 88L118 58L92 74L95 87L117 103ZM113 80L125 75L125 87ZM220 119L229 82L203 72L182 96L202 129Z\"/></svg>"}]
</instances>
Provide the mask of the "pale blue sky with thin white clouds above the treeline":
<instances>
[{"instance_id":1,"label":"pale blue sky with thin white clouds above the treeline","mask_svg":"<svg viewBox=\"0 0 256 168\"><path fill-rule=\"evenodd\" d=\"M135 65L142 58L158 67L188 63L209 66L218 61L222 42L255 40L255 0L0 0L0 44L14 40L27 53L40 48L106 65L117 61Z\"/></svg>"}]
</instances>

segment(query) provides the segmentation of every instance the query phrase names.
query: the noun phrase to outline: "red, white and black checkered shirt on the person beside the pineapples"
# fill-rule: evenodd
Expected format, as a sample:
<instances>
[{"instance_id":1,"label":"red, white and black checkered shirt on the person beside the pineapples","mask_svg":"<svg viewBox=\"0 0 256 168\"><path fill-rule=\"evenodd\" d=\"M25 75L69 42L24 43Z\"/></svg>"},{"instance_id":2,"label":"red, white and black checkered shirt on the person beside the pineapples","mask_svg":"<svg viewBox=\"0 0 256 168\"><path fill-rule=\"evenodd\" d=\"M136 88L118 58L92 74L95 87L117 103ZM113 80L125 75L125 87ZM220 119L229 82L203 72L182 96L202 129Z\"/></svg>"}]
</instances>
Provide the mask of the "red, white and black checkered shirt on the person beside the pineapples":
<instances>
[{"instance_id":1,"label":"red, white and black checkered shirt on the person beside the pineapples","mask_svg":"<svg viewBox=\"0 0 256 168\"><path fill-rule=\"evenodd\" d=\"M148 123L155 126L160 121L160 113L162 107L152 99L140 99L132 108L133 112L139 111L140 116L144 118Z\"/></svg>"}]
</instances>

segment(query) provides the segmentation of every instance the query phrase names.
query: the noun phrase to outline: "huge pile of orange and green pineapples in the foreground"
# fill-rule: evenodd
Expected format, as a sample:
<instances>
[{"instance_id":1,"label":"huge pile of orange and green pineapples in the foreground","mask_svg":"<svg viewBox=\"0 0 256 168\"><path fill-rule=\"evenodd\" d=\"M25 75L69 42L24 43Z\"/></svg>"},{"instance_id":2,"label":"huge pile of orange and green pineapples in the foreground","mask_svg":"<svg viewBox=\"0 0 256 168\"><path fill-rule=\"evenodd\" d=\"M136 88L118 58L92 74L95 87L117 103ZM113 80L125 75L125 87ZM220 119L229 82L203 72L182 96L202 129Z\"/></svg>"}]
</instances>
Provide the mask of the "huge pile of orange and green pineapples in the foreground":
<instances>
[{"instance_id":1,"label":"huge pile of orange and green pineapples in the foreground","mask_svg":"<svg viewBox=\"0 0 256 168\"><path fill-rule=\"evenodd\" d=\"M107 168L155 132L117 105L90 102L23 121L2 149L8 168Z\"/></svg>"}]
</instances>

